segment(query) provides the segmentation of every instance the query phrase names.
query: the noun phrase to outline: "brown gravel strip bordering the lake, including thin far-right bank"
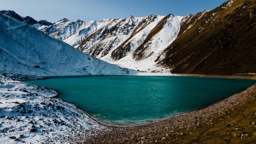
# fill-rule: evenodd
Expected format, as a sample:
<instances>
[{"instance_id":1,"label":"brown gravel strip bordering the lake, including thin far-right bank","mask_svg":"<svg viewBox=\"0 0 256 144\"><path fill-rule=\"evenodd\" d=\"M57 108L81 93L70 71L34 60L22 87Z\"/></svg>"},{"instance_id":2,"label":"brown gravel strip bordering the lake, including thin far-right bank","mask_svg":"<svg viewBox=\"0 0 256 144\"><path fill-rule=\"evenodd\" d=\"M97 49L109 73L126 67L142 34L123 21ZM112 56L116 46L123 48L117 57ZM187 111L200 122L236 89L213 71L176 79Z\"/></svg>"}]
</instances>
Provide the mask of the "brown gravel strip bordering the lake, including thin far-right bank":
<instances>
[{"instance_id":1,"label":"brown gravel strip bordering the lake, including thin far-right bank","mask_svg":"<svg viewBox=\"0 0 256 144\"><path fill-rule=\"evenodd\" d=\"M192 76L192 75L190 75ZM196 76L196 75L193 75ZM202 75L198 75L202 77ZM217 76L211 76L216 77ZM238 76L222 76L219 78L239 78ZM240 77L240 79L254 79L250 77ZM108 143L114 139L117 143L138 143L139 141L149 142L162 137L161 134L179 132L177 130L197 126L199 119L209 118L216 114L222 114L237 105L240 105L251 98L250 93L256 91L256 84L244 91L231 95L221 101L206 106L202 109L163 119L147 124L134 126L113 126L104 125L111 130L103 131L97 136L90 137L86 143ZM224 112L225 113L225 112ZM97 121L98 122L98 121ZM101 124L101 123L99 123ZM120 136L122 133L122 136ZM145 139L144 139L145 137ZM142 138L142 139L141 139ZM126 140L125 140L126 139ZM125 140L125 141L123 141Z\"/></svg>"}]
</instances>

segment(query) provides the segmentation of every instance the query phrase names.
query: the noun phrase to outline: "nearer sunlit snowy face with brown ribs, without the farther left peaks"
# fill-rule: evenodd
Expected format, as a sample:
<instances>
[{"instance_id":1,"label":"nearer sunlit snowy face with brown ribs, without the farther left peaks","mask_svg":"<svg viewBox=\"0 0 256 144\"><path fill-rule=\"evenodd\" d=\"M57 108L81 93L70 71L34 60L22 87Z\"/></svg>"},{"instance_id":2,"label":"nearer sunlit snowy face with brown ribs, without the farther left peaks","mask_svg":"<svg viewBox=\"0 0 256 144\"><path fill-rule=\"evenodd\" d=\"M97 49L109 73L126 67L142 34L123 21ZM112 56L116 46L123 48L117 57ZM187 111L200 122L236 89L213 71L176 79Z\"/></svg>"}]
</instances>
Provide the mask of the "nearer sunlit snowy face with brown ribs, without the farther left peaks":
<instances>
[{"instance_id":1,"label":"nearer sunlit snowy face with brown ribs, without the farther left peaks","mask_svg":"<svg viewBox=\"0 0 256 144\"><path fill-rule=\"evenodd\" d=\"M77 48L109 63L131 69L166 72L156 63L177 37L183 17L151 15L116 20L86 38Z\"/></svg>"}]
</instances>

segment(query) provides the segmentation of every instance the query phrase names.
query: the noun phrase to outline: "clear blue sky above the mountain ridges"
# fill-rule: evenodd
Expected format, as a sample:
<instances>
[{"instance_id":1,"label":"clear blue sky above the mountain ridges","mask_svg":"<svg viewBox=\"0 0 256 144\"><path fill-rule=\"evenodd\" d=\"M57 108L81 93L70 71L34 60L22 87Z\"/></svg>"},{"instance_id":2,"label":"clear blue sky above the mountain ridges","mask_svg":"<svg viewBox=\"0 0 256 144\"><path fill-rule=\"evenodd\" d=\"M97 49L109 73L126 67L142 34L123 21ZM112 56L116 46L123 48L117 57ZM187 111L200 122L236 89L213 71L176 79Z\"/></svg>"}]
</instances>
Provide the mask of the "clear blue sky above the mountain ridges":
<instances>
[{"instance_id":1,"label":"clear blue sky above the mountain ridges","mask_svg":"<svg viewBox=\"0 0 256 144\"><path fill-rule=\"evenodd\" d=\"M13 10L36 20L57 22L144 17L151 14L187 16L214 9L227 0L0 0L0 10Z\"/></svg>"}]
</instances>

